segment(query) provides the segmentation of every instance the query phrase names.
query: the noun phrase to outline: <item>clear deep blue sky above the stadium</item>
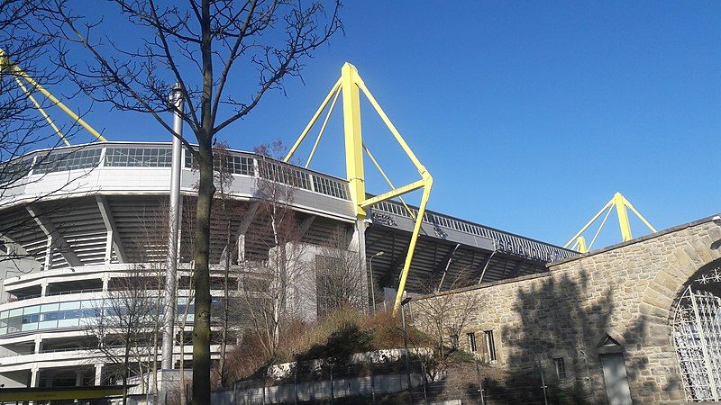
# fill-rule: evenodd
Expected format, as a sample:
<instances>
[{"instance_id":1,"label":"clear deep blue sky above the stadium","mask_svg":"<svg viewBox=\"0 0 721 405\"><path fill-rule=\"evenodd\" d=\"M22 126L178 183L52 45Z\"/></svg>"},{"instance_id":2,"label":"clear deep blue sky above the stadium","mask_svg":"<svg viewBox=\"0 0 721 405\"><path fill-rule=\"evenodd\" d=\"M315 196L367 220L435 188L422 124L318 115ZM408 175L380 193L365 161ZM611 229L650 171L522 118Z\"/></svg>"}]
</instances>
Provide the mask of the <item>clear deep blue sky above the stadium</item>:
<instances>
[{"instance_id":1,"label":"clear deep blue sky above the stadium","mask_svg":"<svg viewBox=\"0 0 721 405\"><path fill-rule=\"evenodd\" d=\"M350 61L434 175L435 211L557 244L616 191L658 229L721 211L721 3L346 3L345 35L305 83L287 80L221 139L292 143ZM106 110L87 117L109 139L169 139ZM397 183L415 179L369 104L363 116ZM339 120L325 136L315 167L342 175ZM386 190L377 175L368 189Z\"/></svg>"}]
</instances>

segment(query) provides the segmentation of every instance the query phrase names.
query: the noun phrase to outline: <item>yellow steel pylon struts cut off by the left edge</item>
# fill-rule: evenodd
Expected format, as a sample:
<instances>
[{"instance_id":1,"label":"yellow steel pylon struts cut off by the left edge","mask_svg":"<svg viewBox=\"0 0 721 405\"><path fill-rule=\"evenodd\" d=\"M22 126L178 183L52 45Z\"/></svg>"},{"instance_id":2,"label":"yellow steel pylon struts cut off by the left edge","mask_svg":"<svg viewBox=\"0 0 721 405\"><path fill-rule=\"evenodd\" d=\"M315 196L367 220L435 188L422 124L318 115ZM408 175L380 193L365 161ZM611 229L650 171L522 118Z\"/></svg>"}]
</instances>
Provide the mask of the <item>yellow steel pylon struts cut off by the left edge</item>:
<instances>
[{"instance_id":1,"label":"yellow steel pylon struts cut off by the left edge","mask_svg":"<svg viewBox=\"0 0 721 405\"><path fill-rule=\"evenodd\" d=\"M68 116L73 121L78 122L78 124L81 127L85 128L88 132L90 132L90 134L93 135L97 140L100 140L102 142L105 142L107 140L107 139L105 139L105 137L103 135L100 134L100 132L95 130L95 128L90 126L90 124L88 124L85 120L80 118L80 116L77 113L70 110L67 105L65 105L64 103L59 101L58 98L56 98L54 95L50 94L50 92L48 90L46 90L45 87L43 87L42 85L40 85L40 83L38 83L34 79L32 79L31 76L28 76L23 71L23 69L21 69L20 67L15 65L10 60L10 58L8 58L7 55L5 55L5 51L3 51L3 49L0 49L0 74L4 73L5 70L7 71L8 74L13 76L15 83L17 83L17 85L20 87L20 89L23 90L23 93L28 96L30 101L35 105L35 107L41 113L41 115L45 119L45 121L48 121L48 124L50 124L50 127L53 130L55 130L55 132L58 134L60 139L62 139L62 141L65 142L66 145L68 145L68 146L70 145L68 138L65 135L63 135L62 131L60 131L58 126L55 125L55 122L53 122L52 119L50 118L50 115L48 115L48 113L45 112L45 110L41 107L41 104L38 103L38 101L35 99L35 97L32 96L32 93L28 90L28 88L25 85L23 85L23 81L21 79L23 79L28 84L32 85L32 87L34 87L36 90L41 92L41 94L44 95L45 97L47 97L48 100L50 100L50 102L53 105L57 105L60 108L60 110L62 110L62 112L65 112L66 114L68 114Z\"/></svg>"}]
</instances>

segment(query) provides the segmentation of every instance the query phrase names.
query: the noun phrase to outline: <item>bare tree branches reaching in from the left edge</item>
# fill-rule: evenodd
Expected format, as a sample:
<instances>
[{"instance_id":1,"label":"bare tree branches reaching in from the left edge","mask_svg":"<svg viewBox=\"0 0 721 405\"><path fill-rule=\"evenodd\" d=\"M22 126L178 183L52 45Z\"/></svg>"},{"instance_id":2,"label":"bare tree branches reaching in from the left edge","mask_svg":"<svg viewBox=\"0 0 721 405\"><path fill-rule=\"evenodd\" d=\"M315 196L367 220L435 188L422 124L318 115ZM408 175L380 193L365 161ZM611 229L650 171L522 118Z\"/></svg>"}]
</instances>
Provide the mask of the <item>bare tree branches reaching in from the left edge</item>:
<instances>
[{"instance_id":1,"label":"bare tree branches reaching in from the left edge","mask_svg":"<svg viewBox=\"0 0 721 405\"><path fill-rule=\"evenodd\" d=\"M41 4L41 0L0 0L0 202L21 193L23 186L42 181L47 173L61 166L73 151L56 150L63 144L59 134L71 140L78 133L75 122L52 121L53 127L50 126L50 115L43 114L57 112L53 111L54 104L26 80L32 77L43 86L52 86L64 77L61 70L47 63L52 36L35 31L39 18L36 12ZM26 156L37 148L44 151L36 154L34 160ZM30 178L33 165L36 170ZM68 184L80 176L68 176L66 181L55 182L41 193L23 197L30 199L27 205L40 202L60 189L67 190ZM5 213L0 219L0 262L4 262L2 267L6 271L32 271L21 266L20 260L35 257L15 237L36 227L35 220L27 215Z\"/></svg>"}]
</instances>

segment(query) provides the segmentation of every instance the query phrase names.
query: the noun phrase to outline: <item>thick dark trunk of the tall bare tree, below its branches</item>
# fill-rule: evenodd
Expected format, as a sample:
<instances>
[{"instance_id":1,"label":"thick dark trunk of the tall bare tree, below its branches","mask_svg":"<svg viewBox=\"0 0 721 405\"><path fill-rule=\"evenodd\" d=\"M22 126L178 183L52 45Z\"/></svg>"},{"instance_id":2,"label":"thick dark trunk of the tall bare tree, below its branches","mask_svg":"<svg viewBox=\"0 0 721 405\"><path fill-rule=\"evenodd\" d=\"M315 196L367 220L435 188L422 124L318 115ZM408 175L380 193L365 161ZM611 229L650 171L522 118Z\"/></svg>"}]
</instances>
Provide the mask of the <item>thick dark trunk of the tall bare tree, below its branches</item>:
<instances>
[{"instance_id":1,"label":"thick dark trunk of the tall bare tree, below its branches","mask_svg":"<svg viewBox=\"0 0 721 405\"><path fill-rule=\"evenodd\" d=\"M210 142L201 142L198 152L200 184L197 194L194 269L196 311L193 322L193 404L206 405L210 403L210 211L215 188Z\"/></svg>"}]
</instances>

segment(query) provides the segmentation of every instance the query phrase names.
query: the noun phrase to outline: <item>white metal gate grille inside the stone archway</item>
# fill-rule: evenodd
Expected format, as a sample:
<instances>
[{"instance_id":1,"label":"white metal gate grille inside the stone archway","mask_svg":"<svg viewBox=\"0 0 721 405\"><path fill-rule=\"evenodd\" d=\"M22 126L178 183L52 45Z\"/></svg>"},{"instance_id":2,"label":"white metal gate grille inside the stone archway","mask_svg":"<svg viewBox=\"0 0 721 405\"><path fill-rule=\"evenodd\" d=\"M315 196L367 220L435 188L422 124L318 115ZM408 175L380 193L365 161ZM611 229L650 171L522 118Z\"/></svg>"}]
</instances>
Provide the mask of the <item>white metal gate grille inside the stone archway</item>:
<instances>
[{"instance_id":1,"label":"white metal gate grille inside the stone archway","mask_svg":"<svg viewBox=\"0 0 721 405\"><path fill-rule=\"evenodd\" d=\"M689 285L674 314L673 341L689 401L721 399L721 298L698 288L720 281L716 268Z\"/></svg>"}]
</instances>

